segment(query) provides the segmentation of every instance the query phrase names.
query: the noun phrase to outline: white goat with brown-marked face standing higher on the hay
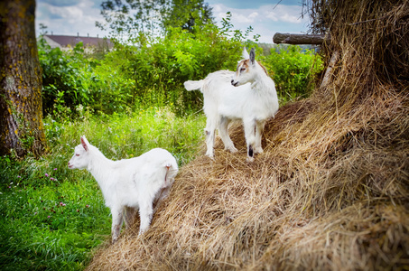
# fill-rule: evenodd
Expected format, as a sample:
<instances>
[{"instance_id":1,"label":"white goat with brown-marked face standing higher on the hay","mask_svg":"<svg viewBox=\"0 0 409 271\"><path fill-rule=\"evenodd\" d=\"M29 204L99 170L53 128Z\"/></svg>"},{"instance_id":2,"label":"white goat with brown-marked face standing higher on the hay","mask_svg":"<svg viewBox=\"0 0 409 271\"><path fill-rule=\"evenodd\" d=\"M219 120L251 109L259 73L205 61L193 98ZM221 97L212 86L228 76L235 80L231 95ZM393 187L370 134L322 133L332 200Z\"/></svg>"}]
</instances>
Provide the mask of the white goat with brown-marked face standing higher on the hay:
<instances>
[{"instance_id":1,"label":"white goat with brown-marked face standing higher on the hay","mask_svg":"<svg viewBox=\"0 0 409 271\"><path fill-rule=\"evenodd\" d=\"M236 72L218 70L205 79L184 82L185 89L200 89L203 93L203 109L207 117L206 155L209 157L214 155L216 128L225 149L237 152L228 136L228 124L231 120L241 119L246 136L247 161L252 162L254 154L263 152L261 136L265 121L274 117L278 110L274 81L268 76L265 67L255 60L255 49L252 48L248 55L245 48L243 57L244 60L237 64Z\"/></svg>"}]
</instances>

